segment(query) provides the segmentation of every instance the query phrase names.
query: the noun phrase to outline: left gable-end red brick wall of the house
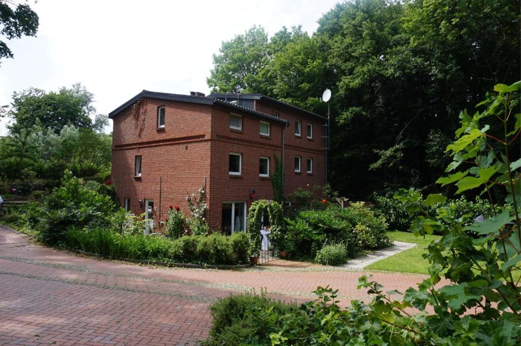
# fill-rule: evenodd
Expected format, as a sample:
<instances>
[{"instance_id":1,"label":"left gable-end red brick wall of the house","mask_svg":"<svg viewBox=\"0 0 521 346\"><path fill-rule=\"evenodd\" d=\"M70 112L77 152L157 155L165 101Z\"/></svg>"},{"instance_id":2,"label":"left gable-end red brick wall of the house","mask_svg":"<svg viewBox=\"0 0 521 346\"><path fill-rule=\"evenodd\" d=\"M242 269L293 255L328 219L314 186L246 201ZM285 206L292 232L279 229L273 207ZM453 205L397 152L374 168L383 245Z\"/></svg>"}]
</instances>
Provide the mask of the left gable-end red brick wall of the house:
<instances>
[{"instance_id":1,"label":"left gable-end red brick wall of the house","mask_svg":"<svg viewBox=\"0 0 521 346\"><path fill-rule=\"evenodd\" d=\"M152 98L142 99L141 105L143 111L138 119L130 108L113 119L112 182L121 206L124 198L130 198L131 212L141 214L145 211L145 199L152 199L157 208L156 222L159 216L160 220L167 219L169 204L179 206L189 215L185 194L195 193L204 185L205 177L209 182L212 106ZM158 130L160 106L165 106L165 128ZM142 156L140 178L134 177L136 155ZM159 177L162 177L161 215ZM139 199L143 200L141 208Z\"/></svg>"}]
</instances>

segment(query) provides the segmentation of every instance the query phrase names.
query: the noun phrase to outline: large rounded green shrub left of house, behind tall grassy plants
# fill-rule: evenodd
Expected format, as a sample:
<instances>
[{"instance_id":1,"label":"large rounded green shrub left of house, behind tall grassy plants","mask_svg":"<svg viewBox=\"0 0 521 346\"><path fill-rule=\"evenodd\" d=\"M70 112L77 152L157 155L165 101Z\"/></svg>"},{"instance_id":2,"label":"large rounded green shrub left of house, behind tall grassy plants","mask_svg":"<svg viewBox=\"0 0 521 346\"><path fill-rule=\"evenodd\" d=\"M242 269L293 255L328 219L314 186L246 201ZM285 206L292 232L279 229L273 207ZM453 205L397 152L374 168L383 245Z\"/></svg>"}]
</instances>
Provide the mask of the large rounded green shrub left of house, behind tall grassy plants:
<instances>
[{"instance_id":1,"label":"large rounded green shrub left of house, behind tall grassy plants","mask_svg":"<svg viewBox=\"0 0 521 346\"><path fill-rule=\"evenodd\" d=\"M28 208L28 226L38 232L42 241L55 245L63 240L71 226L85 229L114 226L114 202L83 186L83 181L65 172L61 186L53 189L41 202Z\"/></svg>"}]
</instances>

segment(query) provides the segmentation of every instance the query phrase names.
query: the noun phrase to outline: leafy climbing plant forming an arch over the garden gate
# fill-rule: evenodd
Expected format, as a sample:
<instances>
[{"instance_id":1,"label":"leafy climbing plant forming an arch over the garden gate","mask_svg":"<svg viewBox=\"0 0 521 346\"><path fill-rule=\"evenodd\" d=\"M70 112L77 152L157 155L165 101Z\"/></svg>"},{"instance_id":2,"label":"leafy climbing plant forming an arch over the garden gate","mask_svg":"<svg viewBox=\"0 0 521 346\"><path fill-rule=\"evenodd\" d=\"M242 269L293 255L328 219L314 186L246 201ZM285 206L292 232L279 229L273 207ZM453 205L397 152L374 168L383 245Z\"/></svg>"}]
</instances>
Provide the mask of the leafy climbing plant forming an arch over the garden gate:
<instances>
[{"instance_id":1,"label":"leafy climbing plant forming an arch over the garden gate","mask_svg":"<svg viewBox=\"0 0 521 346\"><path fill-rule=\"evenodd\" d=\"M259 199L254 201L248 211L246 217L246 226L250 235L250 256L257 257L261 249L261 238L259 237L259 229L261 229L261 220L263 215L268 212L270 222L270 238L276 243L283 239L284 218L282 216L282 204L277 201Z\"/></svg>"}]
</instances>

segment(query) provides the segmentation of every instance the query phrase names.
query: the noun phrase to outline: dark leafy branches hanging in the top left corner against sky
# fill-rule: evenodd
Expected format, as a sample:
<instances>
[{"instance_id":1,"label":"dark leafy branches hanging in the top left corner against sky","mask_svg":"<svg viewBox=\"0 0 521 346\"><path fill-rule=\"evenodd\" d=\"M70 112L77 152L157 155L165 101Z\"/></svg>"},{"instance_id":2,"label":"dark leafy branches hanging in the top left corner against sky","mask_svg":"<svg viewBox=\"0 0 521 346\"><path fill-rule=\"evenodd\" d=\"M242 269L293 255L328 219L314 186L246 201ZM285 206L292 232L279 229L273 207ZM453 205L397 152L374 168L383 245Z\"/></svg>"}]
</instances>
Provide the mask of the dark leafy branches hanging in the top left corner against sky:
<instances>
[{"instance_id":1,"label":"dark leafy branches hanging in the top left corner against sky","mask_svg":"<svg viewBox=\"0 0 521 346\"><path fill-rule=\"evenodd\" d=\"M16 6L16 8L11 8ZM20 39L22 36L36 36L39 18L27 4L15 2L0 2L0 24L2 35L7 40ZM0 41L0 58L12 58L13 52L4 41ZM0 118L2 118L0 116Z\"/></svg>"}]
</instances>

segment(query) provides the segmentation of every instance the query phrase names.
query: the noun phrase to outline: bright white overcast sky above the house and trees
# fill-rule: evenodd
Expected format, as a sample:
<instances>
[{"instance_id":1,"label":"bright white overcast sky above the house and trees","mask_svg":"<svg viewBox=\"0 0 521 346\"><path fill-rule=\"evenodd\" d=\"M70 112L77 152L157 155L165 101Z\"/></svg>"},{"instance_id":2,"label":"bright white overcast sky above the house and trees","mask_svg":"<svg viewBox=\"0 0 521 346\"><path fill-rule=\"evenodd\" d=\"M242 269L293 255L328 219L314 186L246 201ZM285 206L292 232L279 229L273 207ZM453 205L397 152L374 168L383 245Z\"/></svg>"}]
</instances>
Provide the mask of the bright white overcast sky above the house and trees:
<instances>
[{"instance_id":1,"label":"bright white overcast sky above the house and trees","mask_svg":"<svg viewBox=\"0 0 521 346\"><path fill-rule=\"evenodd\" d=\"M20 0L22 2L22 0ZM56 91L81 82L108 113L142 89L209 92L206 77L222 41L254 24L271 36L302 24L309 34L339 0L29 2L38 36L7 41L14 59L0 60L0 105L14 91ZM6 134L6 119L0 135ZM107 129L110 131L110 129Z\"/></svg>"}]
</instances>

